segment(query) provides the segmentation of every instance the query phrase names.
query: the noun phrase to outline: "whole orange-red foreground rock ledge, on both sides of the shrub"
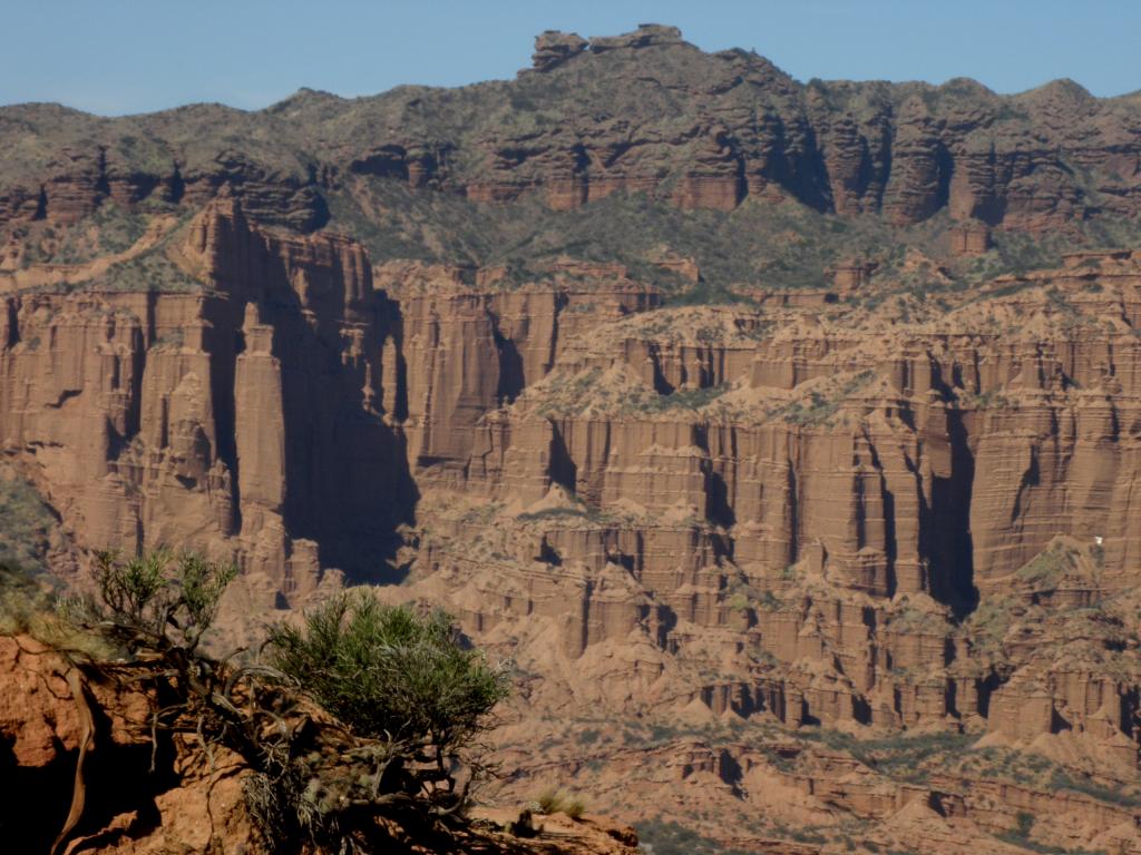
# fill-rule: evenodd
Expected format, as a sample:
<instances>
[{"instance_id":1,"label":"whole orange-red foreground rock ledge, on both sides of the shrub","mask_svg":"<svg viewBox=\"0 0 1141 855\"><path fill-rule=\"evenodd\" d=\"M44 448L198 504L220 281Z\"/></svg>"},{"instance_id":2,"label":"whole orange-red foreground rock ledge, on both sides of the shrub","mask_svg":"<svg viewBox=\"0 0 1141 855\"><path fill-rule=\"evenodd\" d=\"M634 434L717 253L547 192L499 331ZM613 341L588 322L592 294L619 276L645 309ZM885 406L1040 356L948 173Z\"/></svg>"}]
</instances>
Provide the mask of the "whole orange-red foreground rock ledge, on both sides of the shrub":
<instances>
[{"instance_id":1,"label":"whole orange-red foreground rock ledge, on both sides of the shrub","mask_svg":"<svg viewBox=\"0 0 1141 855\"><path fill-rule=\"evenodd\" d=\"M147 697L124 685L91 678L30 636L0 636L6 846L102 855L267 850L245 806L249 768L242 759L218 744L207 749L193 733L152 732ZM83 789L82 811L65 825L73 787ZM519 839L505 831L518 816L519 809L479 808L482 825L460 846L548 855L629 855L638 848L632 829L597 816L544 817ZM431 850L414 834L400 838L391 850Z\"/></svg>"}]
</instances>

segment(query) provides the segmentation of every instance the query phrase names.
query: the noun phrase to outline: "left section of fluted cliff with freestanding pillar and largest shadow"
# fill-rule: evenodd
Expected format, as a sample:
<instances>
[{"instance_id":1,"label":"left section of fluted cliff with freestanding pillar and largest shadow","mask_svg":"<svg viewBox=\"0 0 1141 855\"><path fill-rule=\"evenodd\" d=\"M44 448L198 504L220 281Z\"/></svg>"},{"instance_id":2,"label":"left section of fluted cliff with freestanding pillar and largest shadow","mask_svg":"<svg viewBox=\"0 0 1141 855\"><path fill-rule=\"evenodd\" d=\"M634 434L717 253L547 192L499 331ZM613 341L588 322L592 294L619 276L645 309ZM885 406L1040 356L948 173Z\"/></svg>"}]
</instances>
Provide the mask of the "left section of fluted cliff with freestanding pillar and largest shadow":
<instances>
[{"instance_id":1,"label":"left section of fluted cliff with freestanding pillar and largest shadow","mask_svg":"<svg viewBox=\"0 0 1141 855\"><path fill-rule=\"evenodd\" d=\"M194 544L304 595L314 557L353 565L307 542L351 553L402 507L386 306L358 245L253 231L234 201L177 258L212 290L5 299L0 435L84 545Z\"/></svg>"}]
</instances>

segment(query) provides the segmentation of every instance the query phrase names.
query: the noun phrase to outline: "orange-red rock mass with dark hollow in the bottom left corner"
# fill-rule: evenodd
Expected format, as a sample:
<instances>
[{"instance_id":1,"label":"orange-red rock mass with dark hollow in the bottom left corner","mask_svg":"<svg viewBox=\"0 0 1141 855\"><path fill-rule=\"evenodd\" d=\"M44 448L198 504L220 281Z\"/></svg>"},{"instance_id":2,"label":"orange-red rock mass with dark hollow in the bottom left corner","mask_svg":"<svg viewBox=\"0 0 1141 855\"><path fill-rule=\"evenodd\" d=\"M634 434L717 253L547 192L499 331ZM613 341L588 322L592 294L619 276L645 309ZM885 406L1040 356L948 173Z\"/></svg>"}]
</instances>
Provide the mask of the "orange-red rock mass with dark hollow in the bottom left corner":
<instances>
[{"instance_id":1,"label":"orange-red rock mass with dark hollow in the bottom left corner","mask_svg":"<svg viewBox=\"0 0 1141 855\"><path fill-rule=\"evenodd\" d=\"M86 733L76 689L96 711L95 731L84 762L83 821L62 852L159 855L230 852L249 844L252 833L242 806L241 769L232 758L218 752L216 774L209 775L205 759L194 757L194 740L176 740L185 766L175 765L185 777L176 785L164 775L149 775L146 699L75 682L75 674L74 666L29 636L0 637L2 773L10 784L0 824L7 847L47 852L64 825ZM152 789L157 791L148 792Z\"/></svg>"}]
</instances>

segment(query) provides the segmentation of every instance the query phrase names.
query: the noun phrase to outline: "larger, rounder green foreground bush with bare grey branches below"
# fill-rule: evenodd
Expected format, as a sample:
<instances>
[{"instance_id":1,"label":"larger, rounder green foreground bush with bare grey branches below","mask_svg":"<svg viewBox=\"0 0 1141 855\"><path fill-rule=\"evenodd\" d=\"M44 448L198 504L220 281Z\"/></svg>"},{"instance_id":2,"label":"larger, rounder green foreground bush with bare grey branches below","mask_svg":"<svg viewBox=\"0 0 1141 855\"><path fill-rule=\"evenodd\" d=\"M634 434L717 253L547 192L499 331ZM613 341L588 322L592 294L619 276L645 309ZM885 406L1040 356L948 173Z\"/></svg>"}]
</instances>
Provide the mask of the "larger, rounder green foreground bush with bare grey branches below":
<instances>
[{"instance_id":1,"label":"larger, rounder green foreground bush with bare grey branches below","mask_svg":"<svg viewBox=\"0 0 1141 855\"><path fill-rule=\"evenodd\" d=\"M351 734L332 759L291 749L248 781L272 842L313 838L356 852L377 837L378 817L427 829L460 821L485 771L471 742L508 678L463 644L447 616L341 595L300 628L272 628L268 649L297 691Z\"/></svg>"}]
</instances>

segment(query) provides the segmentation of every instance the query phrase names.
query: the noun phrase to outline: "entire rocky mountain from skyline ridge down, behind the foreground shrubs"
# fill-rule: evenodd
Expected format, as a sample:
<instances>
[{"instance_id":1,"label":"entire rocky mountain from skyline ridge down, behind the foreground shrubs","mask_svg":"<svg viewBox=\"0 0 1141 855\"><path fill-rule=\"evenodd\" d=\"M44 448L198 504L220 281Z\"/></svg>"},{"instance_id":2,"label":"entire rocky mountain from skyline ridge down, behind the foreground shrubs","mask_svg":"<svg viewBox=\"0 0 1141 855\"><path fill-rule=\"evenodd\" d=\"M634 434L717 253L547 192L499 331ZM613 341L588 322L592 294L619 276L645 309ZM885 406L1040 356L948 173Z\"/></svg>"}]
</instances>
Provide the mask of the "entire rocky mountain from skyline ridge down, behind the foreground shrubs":
<instances>
[{"instance_id":1,"label":"entire rocky mountain from skyline ridge down, behind the foreground shrubs","mask_svg":"<svg viewBox=\"0 0 1141 855\"><path fill-rule=\"evenodd\" d=\"M233 559L233 637L443 604L499 796L655 852L1141 850L1136 96L648 25L0 140L21 555Z\"/></svg>"}]
</instances>

